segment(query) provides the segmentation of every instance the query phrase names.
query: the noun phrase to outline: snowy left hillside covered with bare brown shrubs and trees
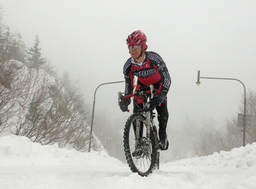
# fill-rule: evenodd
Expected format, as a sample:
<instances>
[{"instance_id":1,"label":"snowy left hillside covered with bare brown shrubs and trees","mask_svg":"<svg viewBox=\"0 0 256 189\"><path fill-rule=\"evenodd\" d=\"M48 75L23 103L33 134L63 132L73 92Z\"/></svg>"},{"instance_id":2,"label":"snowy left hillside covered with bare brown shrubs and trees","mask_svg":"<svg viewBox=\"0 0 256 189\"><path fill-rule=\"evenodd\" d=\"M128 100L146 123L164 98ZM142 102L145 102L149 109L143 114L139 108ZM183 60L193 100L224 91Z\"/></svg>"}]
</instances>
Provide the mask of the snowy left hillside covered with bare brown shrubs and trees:
<instances>
[{"instance_id":1,"label":"snowy left hillside covered with bare brown shrubs and trees","mask_svg":"<svg viewBox=\"0 0 256 189\"><path fill-rule=\"evenodd\" d=\"M79 85L67 73L58 77L52 63L41 57L39 44L36 34L34 45L26 48L21 35L5 23L0 6L0 134L87 151L90 120ZM91 149L99 149L94 134Z\"/></svg>"}]
</instances>

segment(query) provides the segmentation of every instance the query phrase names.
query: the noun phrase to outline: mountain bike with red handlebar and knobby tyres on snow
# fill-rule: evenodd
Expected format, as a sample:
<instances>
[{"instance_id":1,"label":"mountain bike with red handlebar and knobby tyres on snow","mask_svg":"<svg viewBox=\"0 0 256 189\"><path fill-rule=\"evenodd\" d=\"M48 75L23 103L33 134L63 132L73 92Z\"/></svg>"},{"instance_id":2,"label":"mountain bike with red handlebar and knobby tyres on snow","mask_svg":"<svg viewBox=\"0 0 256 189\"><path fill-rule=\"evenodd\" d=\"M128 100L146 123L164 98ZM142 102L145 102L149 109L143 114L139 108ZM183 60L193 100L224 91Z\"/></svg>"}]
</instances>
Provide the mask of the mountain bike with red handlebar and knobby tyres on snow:
<instances>
[{"instance_id":1,"label":"mountain bike with red handlebar and knobby tyres on snow","mask_svg":"<svg viewBox=\"0 0 256 189\"><path fill-rule=\"evenodd\" d=\"M151 102L155 90L153 85L137 89L133 94L123 96L118 92L119 100L138 97L143 100L143 108L132 114L125 124L124 147L127 163L132 172L147 176L154 169L159 169L160 147L157 127L154 125L154 104ZM128 110L129 111L129 110Z\"/></svg>"}]
</instances>

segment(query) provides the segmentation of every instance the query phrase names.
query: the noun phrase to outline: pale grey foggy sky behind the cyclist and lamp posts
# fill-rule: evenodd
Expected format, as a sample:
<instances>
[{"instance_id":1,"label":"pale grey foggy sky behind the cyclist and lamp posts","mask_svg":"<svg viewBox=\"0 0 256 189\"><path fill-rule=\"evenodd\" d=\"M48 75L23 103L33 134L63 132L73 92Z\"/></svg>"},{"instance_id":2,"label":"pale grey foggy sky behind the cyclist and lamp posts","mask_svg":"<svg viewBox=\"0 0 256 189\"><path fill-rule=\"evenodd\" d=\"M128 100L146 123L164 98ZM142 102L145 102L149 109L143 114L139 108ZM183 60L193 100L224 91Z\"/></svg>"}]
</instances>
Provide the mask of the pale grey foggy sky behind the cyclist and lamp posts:
<instances>
[{"instance_id":1,"label":"pale grey foggy sky behind the cyclist and lamp posts","mask_svg":"<svg viewBox=\"0 0 256 189\"><path fill-rule=\"evenodd\" d=\"M38 33L44 56L59 73L80 80L92 106L101 83L122 81L130 57L125 40L142 30L148 51L160 54L172 79L168 93L169 127L185 116L198 124L210 116L219 126L236 116L243 86L256 90L255 0L1 0L12 31L31 47ZM128 117L117 106L124 83L101 86L96 109ZM130 109L132 107L130 106Z\"/></svg>"}]
</instances>

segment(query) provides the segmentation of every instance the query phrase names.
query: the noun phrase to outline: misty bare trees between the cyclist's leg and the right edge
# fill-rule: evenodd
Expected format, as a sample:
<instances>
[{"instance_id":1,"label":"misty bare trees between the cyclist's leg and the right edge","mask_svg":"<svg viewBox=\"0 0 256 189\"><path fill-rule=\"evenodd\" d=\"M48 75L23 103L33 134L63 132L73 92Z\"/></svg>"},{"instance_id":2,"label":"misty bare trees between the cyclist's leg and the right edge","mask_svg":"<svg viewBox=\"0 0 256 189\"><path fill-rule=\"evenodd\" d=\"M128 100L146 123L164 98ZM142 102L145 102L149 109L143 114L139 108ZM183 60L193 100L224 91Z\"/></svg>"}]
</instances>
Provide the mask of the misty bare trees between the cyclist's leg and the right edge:
<instances>
[{"instance_id":1,"label":"misty bare trees between the cyclist's leg and the right edge","mask_svg":"<svg viewBox=\"0 0 256 189\"><path fill-rule=\"evenodd\" d=\"M244 95L241 96L240 114L244 113ZM247 90L246 112L252 115L251 129L247 129L245 144L256 142L256 92ZM214 152L230 151L233 148L243 146L243 132L237 126L236 117L227 117L222 126L209 117L203 120L203 127L200 128L186 116L183 127L180 129L169 129L169 152L163 152L163 162L191 158L194 156L211 155ZM171 148L170 148L171 147ZM161 158L160 158L161 160Z\"/></svg>"}]
</instances>

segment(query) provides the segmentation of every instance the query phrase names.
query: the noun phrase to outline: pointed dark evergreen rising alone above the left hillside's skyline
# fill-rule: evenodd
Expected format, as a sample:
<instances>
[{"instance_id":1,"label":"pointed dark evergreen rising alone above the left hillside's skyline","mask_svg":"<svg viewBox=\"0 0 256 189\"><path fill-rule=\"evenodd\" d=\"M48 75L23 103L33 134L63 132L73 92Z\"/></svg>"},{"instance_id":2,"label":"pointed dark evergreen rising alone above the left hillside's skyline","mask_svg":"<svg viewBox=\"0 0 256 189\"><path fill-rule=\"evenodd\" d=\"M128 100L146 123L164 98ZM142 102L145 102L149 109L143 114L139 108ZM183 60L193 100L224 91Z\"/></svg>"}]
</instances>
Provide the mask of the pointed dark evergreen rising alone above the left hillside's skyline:
<instances>
[{"instance_id":1,"label":"pointed dark evergreen rising alone above the left hillside's skyline","mask_svg":"<svg viewBox=\"0 0 256 189\"><path fill-rule=\"evenodd\" d=\"M39 68L43 63L44 60L41 58L41 48L39 48L39 37L38 34L35 36L35 43L34 46L29 49L29 68Z\"/></svg>"}]
</instances>

